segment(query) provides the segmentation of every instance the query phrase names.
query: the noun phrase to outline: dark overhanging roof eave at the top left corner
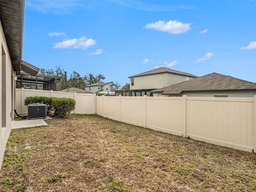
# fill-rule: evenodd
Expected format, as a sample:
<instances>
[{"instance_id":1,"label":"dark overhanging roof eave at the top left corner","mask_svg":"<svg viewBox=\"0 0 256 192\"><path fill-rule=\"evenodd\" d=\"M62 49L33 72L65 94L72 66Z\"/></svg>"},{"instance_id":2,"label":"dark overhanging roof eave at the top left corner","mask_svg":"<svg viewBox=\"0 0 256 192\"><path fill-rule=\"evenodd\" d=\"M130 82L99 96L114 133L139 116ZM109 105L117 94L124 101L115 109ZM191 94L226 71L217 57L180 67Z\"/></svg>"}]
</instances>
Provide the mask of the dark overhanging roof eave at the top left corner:
<instances>
[{"instance_id":1,"label":"dark overhanging roof eave at the top left corner","mask_svg":"<svg viewBox=\"0 0 256 192\"><path fill-rule=\"evenodd\" d=\"M1 0L0 20L9 49L12 66L21 70L24 0Z\"/></svg>"}]
</instances>

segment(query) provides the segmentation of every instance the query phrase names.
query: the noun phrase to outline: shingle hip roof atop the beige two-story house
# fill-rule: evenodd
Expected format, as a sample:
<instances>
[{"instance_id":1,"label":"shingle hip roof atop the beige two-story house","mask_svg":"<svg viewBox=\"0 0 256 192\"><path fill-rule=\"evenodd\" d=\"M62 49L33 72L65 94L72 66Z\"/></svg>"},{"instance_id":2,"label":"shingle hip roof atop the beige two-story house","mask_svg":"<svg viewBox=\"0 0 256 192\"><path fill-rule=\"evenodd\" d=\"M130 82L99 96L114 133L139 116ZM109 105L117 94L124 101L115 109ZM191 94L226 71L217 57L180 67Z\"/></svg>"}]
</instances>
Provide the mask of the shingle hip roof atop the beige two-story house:
<instances>
[{"instance_id":1,"label":"shingle hip roof atop the beige two-story house","mask_svg":"<svg viewBox=\"0 0 256 192\"><path fill-rule=\"evenodd\" d=\"M149 70L149 71L137 74L137 75L130 76L128 78L145 76L145 75L153 75L153 74L161 74L161 73L172 73L172 74L183 75L183 76L188 76L188 77L197 77L196 75L185 73L185 72L182 72L182 71L169 69L167 67L159 67L159 68Z\"/></svg>"}]
</instances>

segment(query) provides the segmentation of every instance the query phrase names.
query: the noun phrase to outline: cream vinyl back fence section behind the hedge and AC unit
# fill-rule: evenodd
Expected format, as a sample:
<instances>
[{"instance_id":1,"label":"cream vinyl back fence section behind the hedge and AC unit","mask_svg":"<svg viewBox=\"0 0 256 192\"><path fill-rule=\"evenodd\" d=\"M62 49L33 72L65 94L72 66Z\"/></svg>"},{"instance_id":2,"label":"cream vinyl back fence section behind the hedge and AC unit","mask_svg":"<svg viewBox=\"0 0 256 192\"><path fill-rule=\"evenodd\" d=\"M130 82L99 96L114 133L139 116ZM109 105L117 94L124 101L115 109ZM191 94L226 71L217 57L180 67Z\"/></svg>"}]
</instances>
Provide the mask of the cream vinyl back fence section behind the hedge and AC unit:
<instances>
[{"instance_id":1,"label":"cream vinyl back fence section behind the hedge and AC unit","mask_svg":"<svg viewBox=\"0 0 256 192\"><path fill-rule=\"evenodd\" d=\"M20 114L28 113L27 106L24 105L26 97L30 96L45 96L45 97L59 97L75 99L76 107L73 113L75 114L95 114L95 95L85 93L68 93L61 91L43 91L43 90L30 90L30 89L16 89L16 110Z\"/></svg>"}]
</instances>

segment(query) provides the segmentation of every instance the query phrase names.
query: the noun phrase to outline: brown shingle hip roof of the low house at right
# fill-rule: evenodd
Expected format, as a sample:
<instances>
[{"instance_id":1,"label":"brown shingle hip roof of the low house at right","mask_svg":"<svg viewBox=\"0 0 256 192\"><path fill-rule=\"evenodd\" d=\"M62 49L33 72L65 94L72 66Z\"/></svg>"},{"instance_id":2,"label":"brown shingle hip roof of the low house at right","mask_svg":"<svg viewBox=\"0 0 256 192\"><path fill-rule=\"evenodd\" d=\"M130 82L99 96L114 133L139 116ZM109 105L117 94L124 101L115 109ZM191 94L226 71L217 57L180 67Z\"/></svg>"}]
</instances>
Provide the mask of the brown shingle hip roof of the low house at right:
<instances>
[{"instance_id":1,"label":"brown shingle hip roof of the low house at right","mask_svg":"<svg viewBox=\"0 0 256 192\"><path fill-rule=\"evenodd\" d=\"M151 92L162 94L180 94L193 91L241 91L256 90L256 83L238 79L235 77L211 73L185 82L166 86Z\"/></svg>"}]
</instances>

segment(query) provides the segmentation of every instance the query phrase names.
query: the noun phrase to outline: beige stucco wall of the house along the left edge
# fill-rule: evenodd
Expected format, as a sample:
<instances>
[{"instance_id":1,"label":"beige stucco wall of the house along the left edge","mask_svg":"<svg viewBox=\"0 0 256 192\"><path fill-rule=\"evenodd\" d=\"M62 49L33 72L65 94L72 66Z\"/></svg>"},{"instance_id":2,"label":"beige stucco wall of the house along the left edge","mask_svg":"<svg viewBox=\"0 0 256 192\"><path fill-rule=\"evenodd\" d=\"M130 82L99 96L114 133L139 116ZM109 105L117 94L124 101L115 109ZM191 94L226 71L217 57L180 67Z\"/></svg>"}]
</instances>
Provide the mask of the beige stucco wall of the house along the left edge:
<instances>
[{"instance_id":1,"label":"beige stucco wall of the house along the left edge","mask_svg":"<svg viewBox=\"0 0 256 192\"><path fill-rule=\"evenodd\" d=\"M1 83L0 83L0 101L1 101L1 106L2 106L2 94L6 94L6 111L2 111L2 107L0 107L0 137L1 137L1 141L0 141L0 166L2 166L2 162L3 162L3 156L4 156L4 150L5 150L5 146L6 146L6 142L7 139L9 138L10 132L11 132L11 124L12 124L12 106L13 106L13 99L12 99L12 89L13 89L13 69L12 69L12 63L11 63L11 59L10 59L10 54L7 48L7 44L6 44L6 40L5 40L5 36L3 33L3 28L0 22L0 79L1 79ZM2 47L3 50L6 54L6 89L3 89L2 87L2 67L3 67L3 63L2 63ZM2 127L2 113L6 113L6 127Z\"/></svg>"}]
</instances>

